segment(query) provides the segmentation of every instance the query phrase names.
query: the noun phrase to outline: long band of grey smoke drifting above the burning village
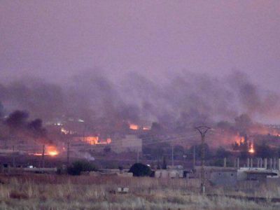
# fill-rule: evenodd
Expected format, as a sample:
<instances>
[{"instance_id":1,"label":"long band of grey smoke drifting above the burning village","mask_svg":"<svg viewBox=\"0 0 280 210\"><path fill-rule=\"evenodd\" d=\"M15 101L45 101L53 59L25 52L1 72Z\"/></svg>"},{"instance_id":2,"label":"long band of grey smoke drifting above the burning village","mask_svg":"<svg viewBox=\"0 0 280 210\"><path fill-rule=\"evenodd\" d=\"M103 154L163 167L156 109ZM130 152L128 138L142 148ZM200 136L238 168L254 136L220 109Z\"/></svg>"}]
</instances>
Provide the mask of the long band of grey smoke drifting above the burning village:
<instances>
[{"instance_id":1,"label":"long band of grey smoke drifting above the burning village","mask_svg":"<svg viewBox=\"0 0 280 210\"><path fill-rule=\"evenodd\" d=\"M80 118L92 127L148 121L183 129L232 121L241 113L275 120L280 114L276 106L279 99L278 94L262 90L239 71L225 78L181 73L153 80L132 72L122 80L114 80L95 69L81 73L67 85L23 79L0 85L0 101L5 107L1 111L0 106L0 113L27 110L31 118L52 122ZM6 120L8 125L25 122L24 114L15 114ZM41 130L41 121L27 127Z\"/></svg>"}]
</instances>

